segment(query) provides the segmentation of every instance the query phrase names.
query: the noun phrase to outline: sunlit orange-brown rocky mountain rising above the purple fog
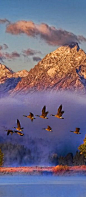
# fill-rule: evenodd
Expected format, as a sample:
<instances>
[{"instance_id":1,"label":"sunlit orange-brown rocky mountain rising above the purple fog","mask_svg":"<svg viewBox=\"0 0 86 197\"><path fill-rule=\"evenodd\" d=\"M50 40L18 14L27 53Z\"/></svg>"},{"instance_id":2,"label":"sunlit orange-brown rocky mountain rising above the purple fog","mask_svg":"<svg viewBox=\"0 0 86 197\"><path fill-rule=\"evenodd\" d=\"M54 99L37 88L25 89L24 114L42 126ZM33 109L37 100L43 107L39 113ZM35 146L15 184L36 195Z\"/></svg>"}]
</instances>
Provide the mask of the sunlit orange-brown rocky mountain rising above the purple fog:
<instances>
[{"instance_id":1,"label":"sunlit orange-brown rocky mountain rising above the purple fog","mask_svg":"<svg viewBox=\"0 0 86 197\"><path fill-rule=\"evenodd\" d=\"M28 93L44 90L74 90L86 92L86 54L77 43L62 46L47 54L29 72L8 72L4 78L17 78L21 80L12 86L8 92ZM4 83L2 73L0 82ZM14 81L15 83L15 81ZM10 90L10 91L9 91ZM3 89L1 89L3 92Z\"/></svg>"}]
</instances>

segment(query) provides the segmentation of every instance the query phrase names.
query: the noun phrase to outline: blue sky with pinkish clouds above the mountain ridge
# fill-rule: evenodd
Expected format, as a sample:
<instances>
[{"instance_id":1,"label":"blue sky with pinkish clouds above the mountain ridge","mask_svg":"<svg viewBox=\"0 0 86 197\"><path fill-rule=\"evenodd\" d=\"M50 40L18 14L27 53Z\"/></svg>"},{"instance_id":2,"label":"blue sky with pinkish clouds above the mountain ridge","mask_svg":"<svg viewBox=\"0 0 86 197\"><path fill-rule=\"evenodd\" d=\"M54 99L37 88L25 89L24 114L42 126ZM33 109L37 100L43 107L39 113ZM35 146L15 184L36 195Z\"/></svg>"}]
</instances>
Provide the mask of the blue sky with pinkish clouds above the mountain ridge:
<instances>
[{"instance_id":1,"label":"blue sky with pinkish clouds above the mountain ridge","mask_svg":"<svg viewBox=\"0 0 86 197\"><path fill-rule=\"evenodd\" d=\"M13 71L30 70L70 41L86 52L85 20L86 0L0 1L0 61Z\"/></svg>"}]
</instances>

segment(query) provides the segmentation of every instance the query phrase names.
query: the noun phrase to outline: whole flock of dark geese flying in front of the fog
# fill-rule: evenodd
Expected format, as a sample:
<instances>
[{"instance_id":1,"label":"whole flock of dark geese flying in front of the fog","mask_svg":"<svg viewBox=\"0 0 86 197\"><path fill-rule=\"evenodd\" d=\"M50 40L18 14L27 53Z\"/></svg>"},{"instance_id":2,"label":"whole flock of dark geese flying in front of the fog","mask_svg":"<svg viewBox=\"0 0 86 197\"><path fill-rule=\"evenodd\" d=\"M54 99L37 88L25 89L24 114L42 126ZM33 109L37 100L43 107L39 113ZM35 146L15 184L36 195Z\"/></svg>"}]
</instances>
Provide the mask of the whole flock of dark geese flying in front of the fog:
<instances>
[{"instance_id":1,"label":"whole flock of dark geese flying in front of the fog","mask_svg":"<svg viewBox=\"0 0 86 197\"><path fill-rule=\"evenodd\" d=\"M43 108L42 108L42 113L41 113L41 115L36 115L37 117L40 117L40 118L43 118L43 119L48 119L48 117L47 117L47 115L48 115L48 111L46 111L46 106L44 106ZM62 115L63 115L63 113L64 113L64 111L62 111L62 104L59 106L59 108L58 108L58 110L57 110L57 114L51 114L51 116L55 116L56 118L60 118L60 119L64 119L63 117L62 117ZM23 115L24 117L27 117L27 118L29 118L32 122L33 122L33 120L34 119L36 119L35 117L34 117L34 114L32 113L32 112L30 112L30 114L29 115ZM21 124L20 124L20 121L17 119L17 127L13 127L13 128L15 128L16 130L10 130L10 129L8 129L8 130L5 130L5 131L7 131L7 135L9 135L9 134L13 134L13 133L16 133L16 134L18 134L18 135L20 135L20 136L23 136L24 135L24 133L22 133L23 132L23 127L21 127ZM52 128L48 125L47 126L47 128L43 128L44 130L47 130L47 131L50 131L50 132L53 132L52 131ZM73 133L75 133L75 134L81 134L80 132L80 128L76 128L76 130L75 131L70 131L70 132L73 132Z\"/></svg>"}]
</instances>

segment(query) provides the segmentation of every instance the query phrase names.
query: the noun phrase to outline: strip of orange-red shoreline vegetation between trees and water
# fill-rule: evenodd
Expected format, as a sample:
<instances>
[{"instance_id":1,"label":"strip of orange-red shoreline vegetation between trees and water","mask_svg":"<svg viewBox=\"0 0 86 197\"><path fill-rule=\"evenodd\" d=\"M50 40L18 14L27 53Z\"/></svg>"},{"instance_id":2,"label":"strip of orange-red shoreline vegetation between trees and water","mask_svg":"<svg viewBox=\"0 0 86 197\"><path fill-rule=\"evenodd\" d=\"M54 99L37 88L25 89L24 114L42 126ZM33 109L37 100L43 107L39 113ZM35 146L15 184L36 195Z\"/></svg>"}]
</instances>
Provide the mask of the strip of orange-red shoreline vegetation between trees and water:
<instances>
[{"instance_id":1,"label":"strip of orange-red shoreline vegetation between trees and water","mask_svg":"<svg viewBox=\"0 0 86 197\"><path fill-rule=\"evenodd\" d=\"M52 166L52 167L0 167L0 175L86 175L86 166Z\"/></svg>"}]
</instances>

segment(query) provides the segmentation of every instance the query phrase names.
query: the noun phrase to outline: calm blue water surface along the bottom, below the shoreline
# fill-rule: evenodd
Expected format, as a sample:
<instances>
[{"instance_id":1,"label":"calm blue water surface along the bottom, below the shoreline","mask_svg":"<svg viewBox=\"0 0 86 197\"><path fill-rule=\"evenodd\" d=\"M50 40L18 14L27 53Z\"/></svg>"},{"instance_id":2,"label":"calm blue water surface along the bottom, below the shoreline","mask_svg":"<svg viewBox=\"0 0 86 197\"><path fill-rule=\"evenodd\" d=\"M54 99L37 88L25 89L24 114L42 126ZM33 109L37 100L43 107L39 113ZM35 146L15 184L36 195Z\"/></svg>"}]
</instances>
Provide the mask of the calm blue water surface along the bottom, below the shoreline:
<instances>
[{"instance_id":1,"label":"calm blue water surface along the bottom, below the shoreline","mask_svg":"<svg viewBox=\"0 0 86 197\"><path fill-rule=\"evenodd\" d=\"M0 176L0 197L86 197L86 177Z\"/></svg>"}]
</instances>

